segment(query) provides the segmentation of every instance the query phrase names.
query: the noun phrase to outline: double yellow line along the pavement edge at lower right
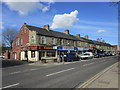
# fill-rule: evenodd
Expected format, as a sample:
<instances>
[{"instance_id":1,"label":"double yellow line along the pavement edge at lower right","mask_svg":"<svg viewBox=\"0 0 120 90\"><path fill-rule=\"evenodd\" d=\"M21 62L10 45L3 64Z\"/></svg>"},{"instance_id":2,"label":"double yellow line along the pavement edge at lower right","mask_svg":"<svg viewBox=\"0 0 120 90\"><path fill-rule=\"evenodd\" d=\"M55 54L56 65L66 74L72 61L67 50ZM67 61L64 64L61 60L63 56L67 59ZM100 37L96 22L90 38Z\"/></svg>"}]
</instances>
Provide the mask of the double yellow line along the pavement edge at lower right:
<instances>
[{"instance_id":1,"label":"double yellow line along the pavement edge at lower right","mask_svg":"<svg viewBox=\"0 0 120 90\"><path fill-rule=\"evenodd\" d=\"M117 62L117 63L118 63L118 62ZM78 89L80 90L80 88L82 89L82 88L87 87L89 84L91 84L93 81L95 81L97 78L99 78L99 77L100 77L102 74L104 74L106 71L108 71L109 69L111 69L111 68L112 68L114 65L116 65L117 63L109 66L108 68L106 68L106 69L104 69L104 70L102 70L100 73L96 74L95 76L93 76L92 78L90 78L88 81L84 82L82 85L77 86L77 87L75 88L75 90L78 90Z\"/></svg>"}]
</instances>

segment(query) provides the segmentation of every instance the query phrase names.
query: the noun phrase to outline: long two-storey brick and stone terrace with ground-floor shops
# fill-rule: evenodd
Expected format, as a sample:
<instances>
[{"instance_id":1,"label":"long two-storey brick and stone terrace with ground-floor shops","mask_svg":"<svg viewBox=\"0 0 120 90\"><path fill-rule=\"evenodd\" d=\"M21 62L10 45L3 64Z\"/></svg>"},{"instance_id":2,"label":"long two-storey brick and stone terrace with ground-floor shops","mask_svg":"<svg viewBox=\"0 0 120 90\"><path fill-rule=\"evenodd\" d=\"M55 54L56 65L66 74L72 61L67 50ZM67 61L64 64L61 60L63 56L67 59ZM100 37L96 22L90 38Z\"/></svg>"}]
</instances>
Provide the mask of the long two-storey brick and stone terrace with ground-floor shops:
<instances>
[{"instance_id":1,"label":"long two-storey brick and stone terrace with ground-floor shops","mask_svg":"<svg viewBox=\"0 0 120 90\"><path fill-rule=\"evenodd\" d=\"M57 32L49 29L30 26L24 23L13 42L11 55L13 59L39 61L41 59L57 59L60 53L81 52L87 50L114 51L114 47L105 41L90 40L80 34L71 35L69 30Z\"/></svg>"}]
</instances>

